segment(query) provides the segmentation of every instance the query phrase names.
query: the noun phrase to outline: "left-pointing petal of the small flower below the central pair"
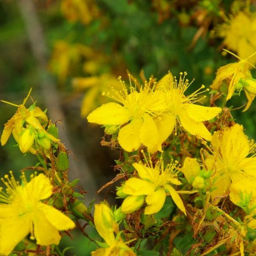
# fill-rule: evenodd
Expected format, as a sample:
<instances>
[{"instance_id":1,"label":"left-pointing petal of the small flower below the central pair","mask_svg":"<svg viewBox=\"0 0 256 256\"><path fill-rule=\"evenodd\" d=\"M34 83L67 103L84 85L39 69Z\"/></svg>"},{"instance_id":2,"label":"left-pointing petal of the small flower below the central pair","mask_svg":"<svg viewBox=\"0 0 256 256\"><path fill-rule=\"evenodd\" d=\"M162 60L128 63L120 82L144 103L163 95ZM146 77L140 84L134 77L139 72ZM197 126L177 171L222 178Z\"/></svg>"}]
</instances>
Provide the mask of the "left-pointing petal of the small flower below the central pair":
<instances>
[{"instance_id":1,"label":"left-pointing petal of the small flower below the central pair","mask_svg":"<svg viewBox=\"0 0 256 256\"><path fill-rule=\"evenodd\" d=\"M156 189L156 185L138 178L130 178L125 181L122 191L127 195L149 195Z\"/></svg>"}]
</instances>

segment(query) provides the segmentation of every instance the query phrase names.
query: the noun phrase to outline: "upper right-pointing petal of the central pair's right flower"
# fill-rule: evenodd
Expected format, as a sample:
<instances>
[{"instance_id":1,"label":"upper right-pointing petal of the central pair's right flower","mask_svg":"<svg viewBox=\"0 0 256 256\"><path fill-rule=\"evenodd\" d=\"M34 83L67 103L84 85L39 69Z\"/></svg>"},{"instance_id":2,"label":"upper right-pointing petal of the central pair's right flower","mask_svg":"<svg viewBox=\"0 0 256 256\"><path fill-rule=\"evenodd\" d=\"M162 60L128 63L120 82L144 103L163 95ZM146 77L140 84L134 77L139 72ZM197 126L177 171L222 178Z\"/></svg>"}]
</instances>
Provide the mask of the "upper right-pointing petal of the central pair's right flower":
<instances>
[{"instance_id":1,"label":"upper right-pointing petal of the central pair's right flower","mask_svg":"<svg viewBox=\"0 0 256 256\"><path fill-rule=\"evenodd\" d=\"M184 104L189 117L195 121L213 119L221 111L220 107L205 107L196 104Z\"/></svg>"}]
</instances>

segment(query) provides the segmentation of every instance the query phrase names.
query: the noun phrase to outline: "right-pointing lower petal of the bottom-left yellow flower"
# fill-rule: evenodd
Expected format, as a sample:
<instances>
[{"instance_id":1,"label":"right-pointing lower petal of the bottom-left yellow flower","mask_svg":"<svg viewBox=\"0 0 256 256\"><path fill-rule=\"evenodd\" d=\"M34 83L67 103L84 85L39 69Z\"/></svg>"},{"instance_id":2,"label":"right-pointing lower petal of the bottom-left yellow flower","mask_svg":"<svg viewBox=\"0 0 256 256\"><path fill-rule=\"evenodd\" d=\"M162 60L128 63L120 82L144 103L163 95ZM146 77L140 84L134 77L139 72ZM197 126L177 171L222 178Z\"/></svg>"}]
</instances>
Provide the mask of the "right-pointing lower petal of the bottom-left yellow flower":
<instances>
[{"instance_id":1,"label":"right-pointing lower petal of the bottom-left yellow flower","mask_svg":"<svg viewBox=\"0 0 256 256\"><path fill-rule=\"evenodd\" d=\"M38 203L38 210L42 211L51 225L58 230L75 228L75 223L68 216L50 205Z\"/></svg>"}]
</instances>

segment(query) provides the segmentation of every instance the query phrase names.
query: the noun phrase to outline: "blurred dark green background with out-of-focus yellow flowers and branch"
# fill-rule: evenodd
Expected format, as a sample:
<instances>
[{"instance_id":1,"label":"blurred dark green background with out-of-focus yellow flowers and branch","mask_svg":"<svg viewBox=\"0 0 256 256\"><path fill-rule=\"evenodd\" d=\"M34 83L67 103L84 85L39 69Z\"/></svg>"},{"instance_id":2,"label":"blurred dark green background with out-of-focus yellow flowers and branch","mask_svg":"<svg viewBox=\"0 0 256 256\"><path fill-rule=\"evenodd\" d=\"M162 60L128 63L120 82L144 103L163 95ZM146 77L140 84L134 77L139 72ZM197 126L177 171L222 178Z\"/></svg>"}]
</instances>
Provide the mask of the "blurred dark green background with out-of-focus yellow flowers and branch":
<instances>
[{"instance_id":1,"label":"blurred dark green background with out-of-focus yellow flowers and branch","mask_svg":"<svg viewBox=\"0 0 256 256\"><path fill-rule=\"evenodd\" d=\"M109 85L118 88L116 78L127 80L127 72L143 82L186 71L190 81L195 78L192 91L209 87L220 66L237 61L223 54L230 47L216 30L246 8L254 17L255 1L0 0L0 99L22 104L32 87L37 106L58 121L61 140L72 151L71 180L80 178L89 192L86 204L114 200L111 188L95 191L115 177L119 152L101 146L104 130L86 121L107 102L101 93ZM228 106L245 102L242 95ZM254 139L255 106L232 112ZM1 129L15 111L0 102ZM14 145L0 147L2 174L37 163ZM73 254L90 255L89 245L77 244Z\"/></svg>"}]
</instances>

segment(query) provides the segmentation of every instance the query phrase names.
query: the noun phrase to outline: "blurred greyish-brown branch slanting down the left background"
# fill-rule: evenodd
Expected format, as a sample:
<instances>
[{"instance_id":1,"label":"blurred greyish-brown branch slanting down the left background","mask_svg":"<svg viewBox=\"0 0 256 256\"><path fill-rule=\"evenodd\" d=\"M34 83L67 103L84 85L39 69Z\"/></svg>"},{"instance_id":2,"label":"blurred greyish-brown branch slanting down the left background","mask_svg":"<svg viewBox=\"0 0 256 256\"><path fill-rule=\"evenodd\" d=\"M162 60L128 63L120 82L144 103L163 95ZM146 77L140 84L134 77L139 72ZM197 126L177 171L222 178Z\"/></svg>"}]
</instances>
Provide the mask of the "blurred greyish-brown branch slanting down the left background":
<instances>
[{"instance_id":1,"label":"blurred greyish-brown branch slanting down the left background","mask_svg":"<svg viewBox=\"0 0 256 256\"><path fill-rule=\"evenodd\" d=\"M65 143L66 148L80 159L76 161L74 157L70 157L70 180L80 178L84 188L90 192L91 197L94 197L94 193L97 190L95 180L86 160L82 159L72 147L70 136L68 135L68 125L61 108L60 97L55 83L47 72L47 48L35 4L33 0L20 0L18 5L26 25L31 50L37 61L42 97L47 106L48 114L53 121L61 120L64 129L59 129L60 139Z\"/></svg>"}]
</instances>

